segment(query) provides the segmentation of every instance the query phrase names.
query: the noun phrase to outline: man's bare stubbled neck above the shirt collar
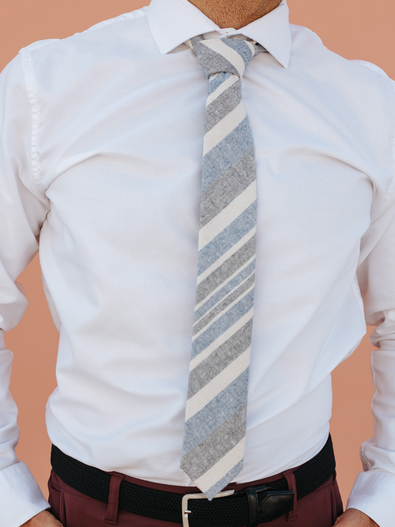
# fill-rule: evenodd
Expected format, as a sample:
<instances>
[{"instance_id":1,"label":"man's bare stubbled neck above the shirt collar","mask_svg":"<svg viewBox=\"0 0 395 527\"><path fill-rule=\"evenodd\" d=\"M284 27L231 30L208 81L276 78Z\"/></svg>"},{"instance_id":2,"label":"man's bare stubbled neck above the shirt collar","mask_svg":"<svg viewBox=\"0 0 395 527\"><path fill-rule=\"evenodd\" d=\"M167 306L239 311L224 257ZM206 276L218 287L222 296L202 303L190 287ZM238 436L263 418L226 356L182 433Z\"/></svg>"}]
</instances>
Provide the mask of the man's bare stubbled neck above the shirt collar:
<instances>
[{"instance_id":1,"label":"man's bare stubbled neck above the shirt collar","mask_svg":"<svg viewBox=\"0 0 395 527\"><path fill-rule=\"evenodd\" d=\"M273 11L281 0L189 0L221 29L241 27Z\"/></svg>"}]
</instances>

